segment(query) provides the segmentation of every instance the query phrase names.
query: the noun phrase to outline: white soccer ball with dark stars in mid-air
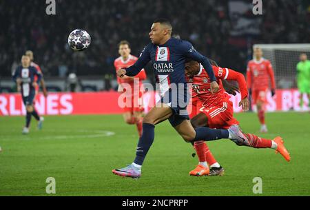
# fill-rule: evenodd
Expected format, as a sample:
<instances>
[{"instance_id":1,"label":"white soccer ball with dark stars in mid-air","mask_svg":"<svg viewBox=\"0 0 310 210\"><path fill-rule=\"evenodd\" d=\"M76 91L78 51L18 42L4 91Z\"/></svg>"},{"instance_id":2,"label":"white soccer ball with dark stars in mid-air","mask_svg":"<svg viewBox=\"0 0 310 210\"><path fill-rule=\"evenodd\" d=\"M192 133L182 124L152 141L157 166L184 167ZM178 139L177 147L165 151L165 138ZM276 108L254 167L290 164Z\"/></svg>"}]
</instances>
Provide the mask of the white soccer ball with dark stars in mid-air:
<instances>
[{"instance_id":1,"label":"white soccer ball with dark stars in mid-air","mask_svg":"<svg viewBox=\"0 0 310 210\"><path fill-rule=\"evenodd\" d=\"M86 50L90 46L90 42L90 34L82 29L72 31L68 37L68 44L75 51Z\"/></svg>"}]
</instances>

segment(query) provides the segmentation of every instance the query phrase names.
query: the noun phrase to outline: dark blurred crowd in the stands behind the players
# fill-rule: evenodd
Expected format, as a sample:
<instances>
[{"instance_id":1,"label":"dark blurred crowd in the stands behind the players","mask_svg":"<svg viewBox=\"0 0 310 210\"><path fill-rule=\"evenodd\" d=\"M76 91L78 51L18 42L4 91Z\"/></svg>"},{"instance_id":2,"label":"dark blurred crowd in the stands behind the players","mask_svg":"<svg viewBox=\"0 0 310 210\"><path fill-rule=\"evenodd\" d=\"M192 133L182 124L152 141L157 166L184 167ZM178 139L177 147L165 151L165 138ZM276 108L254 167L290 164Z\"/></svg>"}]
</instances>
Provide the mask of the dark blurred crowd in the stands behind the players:
<instances>
[{"instance_id":1,"label":"dark blurred crowd in the stands behind the players","mask_svg":"<svg viewBox=\"0 0 310 210\"><path fill-rule=\"evenodd\" d=\"M56 0L56 15L45 14L46 6L45 1L0 1L0 76L10 76L25 50L34 52L45 76L114 75L118 42L130 41L138 56L158 17L172 21L174 34L198 51L240 72L254 43L310 43L310 8L304 0L263 1L263 14L255 17L262 19L260 33L238 37L230 33L234 25L225 0ZM68 48L68 35L76 28L92 36L85 52Z\"/></svg>"}]
</instances>

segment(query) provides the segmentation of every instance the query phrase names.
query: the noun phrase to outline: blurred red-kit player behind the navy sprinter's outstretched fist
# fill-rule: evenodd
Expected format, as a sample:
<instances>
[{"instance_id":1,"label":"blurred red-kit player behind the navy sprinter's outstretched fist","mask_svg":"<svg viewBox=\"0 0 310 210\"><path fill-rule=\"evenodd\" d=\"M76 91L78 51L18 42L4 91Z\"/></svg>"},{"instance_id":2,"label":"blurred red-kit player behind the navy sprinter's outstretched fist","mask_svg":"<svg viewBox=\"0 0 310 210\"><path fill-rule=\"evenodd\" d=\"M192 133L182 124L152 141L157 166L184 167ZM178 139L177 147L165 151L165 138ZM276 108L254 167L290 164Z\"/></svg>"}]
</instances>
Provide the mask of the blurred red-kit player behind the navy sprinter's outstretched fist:
<instances>
[{"instance_id":1,"label":"blurred red-kit player behind the navy sprinter's outstretched fist","mask_svg":"<svg viewBox=\"0 0 310 210\"><path fill-rule=\"evenodd\" d=\"M114 67L116 72L122 68L130 67L136 63L138 58L130 54L130 43L128 41L121 41L118 44L118 54L119 56L114 61ZM127 124L136 125L138 129L139 136L142 135L142 122L143 122L143 92L144 87L142 81L146 79L145 70L141 70L136 76L123 76L123 78L117 77L118 82L118 92L126 94L125 100L131 101L130 106L125 106L123 108L124 120ZM125 85L127 84L127 85ZM126 86L131 90L126 91ZM136 87L134 88L134 86Z\"/></svg>"}]
</instances>

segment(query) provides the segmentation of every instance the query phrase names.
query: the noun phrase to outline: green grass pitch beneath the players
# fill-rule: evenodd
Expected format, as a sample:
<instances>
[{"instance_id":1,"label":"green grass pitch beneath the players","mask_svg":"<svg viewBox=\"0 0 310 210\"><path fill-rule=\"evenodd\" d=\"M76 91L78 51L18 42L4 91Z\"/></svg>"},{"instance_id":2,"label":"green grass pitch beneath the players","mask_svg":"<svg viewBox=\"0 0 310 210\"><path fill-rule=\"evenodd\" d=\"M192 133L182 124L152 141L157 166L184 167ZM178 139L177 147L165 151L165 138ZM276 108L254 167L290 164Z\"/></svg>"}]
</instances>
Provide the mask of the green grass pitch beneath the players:
<instances>
[{"instance_id":1,"label":"green grass pitch beneath the players","mask_svg":"<svg viewBox=\"0 0 310 210\"><path fill-rule=\"evenodd\" d=\"M258 134L256 114L236 114L245 132ZM137 132L122 116L46 116L38 131L21 135L23 117L0 118L0 196L50 196L46 178L56 179L56 196L262 196L310 195L310 114L267 114L269 134L282 136L291 162L271 149L238 147L230 140L208 142L223 177L191 177L198 160L168 122L156 126L155 140L139 180L112 169L134 159ZM112 134L111 132L114 132ZM112 136L110 136L112 135Z\"/></svg>"}]
</instances>

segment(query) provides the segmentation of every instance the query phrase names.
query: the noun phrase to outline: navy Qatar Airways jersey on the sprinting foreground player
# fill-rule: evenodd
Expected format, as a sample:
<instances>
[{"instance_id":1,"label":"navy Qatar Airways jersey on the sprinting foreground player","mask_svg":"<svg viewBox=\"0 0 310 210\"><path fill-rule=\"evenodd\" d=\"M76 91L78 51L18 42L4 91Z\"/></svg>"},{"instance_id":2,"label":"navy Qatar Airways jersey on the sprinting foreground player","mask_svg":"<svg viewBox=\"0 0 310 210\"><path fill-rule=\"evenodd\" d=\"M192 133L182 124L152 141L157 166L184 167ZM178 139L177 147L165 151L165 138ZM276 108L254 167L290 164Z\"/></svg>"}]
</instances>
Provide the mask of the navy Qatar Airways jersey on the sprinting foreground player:
<instances>
[{"instance_id":1,"label":"navy Qatar Airways jersey on the sprinting foreground player","mask_svg":"<svg viewBox=\"0 0 310 210\"><path fill-rule=\"evenodd\" d=\"M216 81L209 59L197 52L188 41L171 38L163 45L149 43L141 53L138 61L126 69L127 76L135 76L140 70L152 62L156 83L159 84L160 94L165 94L172 83L184 84L185 59L198 61L205 67L211 81Z\"/></svg>"}]
</instances>

